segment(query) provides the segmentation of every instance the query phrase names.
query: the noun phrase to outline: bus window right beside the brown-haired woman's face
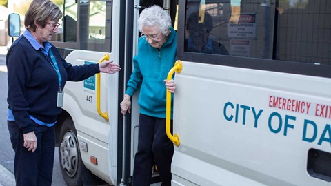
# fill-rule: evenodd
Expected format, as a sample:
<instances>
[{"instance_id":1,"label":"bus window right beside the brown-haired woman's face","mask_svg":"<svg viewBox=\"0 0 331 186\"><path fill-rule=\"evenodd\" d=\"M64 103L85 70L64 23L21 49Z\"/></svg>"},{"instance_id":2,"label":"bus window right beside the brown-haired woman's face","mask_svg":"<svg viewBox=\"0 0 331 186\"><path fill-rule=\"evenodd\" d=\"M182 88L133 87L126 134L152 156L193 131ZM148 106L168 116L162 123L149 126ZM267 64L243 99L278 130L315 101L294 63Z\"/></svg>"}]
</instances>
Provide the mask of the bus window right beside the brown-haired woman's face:
<instances>
[{"instance_id":1,"label":"bus window right beside the brown-haired woman's face","mask_svg":"<svg viewBox=\"0 0 331 186\"><path fill-rule=\"evenodd\" d=\"M54 2L63 12L63 19L59 31L54 34L52 41L77 42L77 3L75 0L62 0Z\"/></svg>"}]
</instances>

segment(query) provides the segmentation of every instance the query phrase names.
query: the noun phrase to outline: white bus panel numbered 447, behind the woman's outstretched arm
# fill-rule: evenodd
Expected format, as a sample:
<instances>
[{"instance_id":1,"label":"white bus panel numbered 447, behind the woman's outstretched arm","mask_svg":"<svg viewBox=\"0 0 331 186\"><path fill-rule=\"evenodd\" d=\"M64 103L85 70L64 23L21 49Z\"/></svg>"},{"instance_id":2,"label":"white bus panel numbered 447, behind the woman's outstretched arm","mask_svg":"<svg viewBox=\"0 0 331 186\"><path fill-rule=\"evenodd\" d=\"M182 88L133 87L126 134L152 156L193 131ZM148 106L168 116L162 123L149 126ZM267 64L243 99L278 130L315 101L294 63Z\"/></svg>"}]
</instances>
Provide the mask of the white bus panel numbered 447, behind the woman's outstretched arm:
<instances>
[{"instance_id":1,"label":"white bus panel numbered 447, behind the woman's outstretched arm","mask_svg":"<svg viewBox=\"0 0 331 186\"><path fill-rule=\"evenodd\" d=\"M74 50L66 61L72 65L97 63L104 54ZM96 87L96 76L84 81L68 82L64 90L63 110L74 121L78 142L87 143L87 152L81 150L84 165L108 183L116 183L118 75L101 74L101 112L108 112L109 121L97 112ZM90 156L97 158L98 165L90 162Z\"/></svg>"}]
</instances>

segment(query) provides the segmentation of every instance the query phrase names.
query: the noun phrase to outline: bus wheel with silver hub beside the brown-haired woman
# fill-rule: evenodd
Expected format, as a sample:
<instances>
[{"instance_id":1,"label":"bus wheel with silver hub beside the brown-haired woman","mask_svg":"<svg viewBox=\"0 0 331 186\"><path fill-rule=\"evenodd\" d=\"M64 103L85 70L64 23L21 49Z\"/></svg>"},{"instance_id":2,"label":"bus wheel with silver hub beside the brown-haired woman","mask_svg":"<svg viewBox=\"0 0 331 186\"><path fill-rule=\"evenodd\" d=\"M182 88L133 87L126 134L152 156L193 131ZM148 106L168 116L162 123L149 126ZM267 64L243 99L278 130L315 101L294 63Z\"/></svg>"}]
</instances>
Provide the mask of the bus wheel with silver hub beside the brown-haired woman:
<instances>
[{"instance_id":1,"label":"bus wheel with silver hub beside the brown-haired woman","mask_svg":"<svg viewBox=\"0 0 331 186\"><path fill-rule=\"evenodd\" d=\"M77 131L71 118L66 118L61 126L59 146L59 163L63 179L67 185L82 185L83 170Z\"/></svg>"}]
</instances>

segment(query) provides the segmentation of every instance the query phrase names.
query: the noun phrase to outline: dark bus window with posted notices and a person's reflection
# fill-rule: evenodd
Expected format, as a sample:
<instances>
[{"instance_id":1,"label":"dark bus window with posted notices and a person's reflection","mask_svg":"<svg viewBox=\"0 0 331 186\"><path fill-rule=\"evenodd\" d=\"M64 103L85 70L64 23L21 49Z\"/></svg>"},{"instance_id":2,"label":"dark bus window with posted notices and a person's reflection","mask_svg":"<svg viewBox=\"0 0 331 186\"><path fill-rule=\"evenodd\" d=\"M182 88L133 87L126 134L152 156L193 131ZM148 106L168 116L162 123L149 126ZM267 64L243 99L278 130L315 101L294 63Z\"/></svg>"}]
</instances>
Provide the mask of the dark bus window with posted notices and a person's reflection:
<instances>
[{"instance_id":1,"label":"dark bus window with posted notices and a person's reflection","mask_svg":"<svg viewBox=\"0 0 331 186\"><path fill-rule=\"evenodd\" d=\"M189 0L185 51L271 59L274 3L259 2Z\"/></svg>"}]
</instances>

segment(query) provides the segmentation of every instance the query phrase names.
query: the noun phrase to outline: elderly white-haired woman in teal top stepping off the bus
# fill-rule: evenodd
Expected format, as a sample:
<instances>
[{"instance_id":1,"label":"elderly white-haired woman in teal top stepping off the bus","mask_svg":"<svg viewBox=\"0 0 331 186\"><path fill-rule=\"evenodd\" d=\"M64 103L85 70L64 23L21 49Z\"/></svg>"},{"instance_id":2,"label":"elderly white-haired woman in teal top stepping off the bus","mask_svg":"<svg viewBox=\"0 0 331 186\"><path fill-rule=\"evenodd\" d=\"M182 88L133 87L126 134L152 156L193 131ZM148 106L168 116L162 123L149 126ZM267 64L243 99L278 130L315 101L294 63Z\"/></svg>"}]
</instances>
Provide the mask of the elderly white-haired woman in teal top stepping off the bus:
<instances>
[{"instance_id":1,"label":"elderly white-haired woman in teal top stepping off the bus","mask_svg":"<svg viewBox=\"0 0 331 186\"><path fill-rule=\"evenodd\" d=\"M159 6L143 10L138 24L141 32L138 54L134 56L134 70L121 102L123 116L126 112L131 113L131 96L141 87L133 185L150 185L153 163L157 165L162 185L171 185L174 146L165 134L165 88L174 92L175 86L173 79L165 79L176 61L177 33L171 27L170 15Z\"/></svg>"}]
</instances>

